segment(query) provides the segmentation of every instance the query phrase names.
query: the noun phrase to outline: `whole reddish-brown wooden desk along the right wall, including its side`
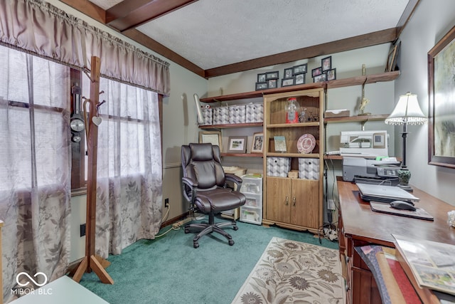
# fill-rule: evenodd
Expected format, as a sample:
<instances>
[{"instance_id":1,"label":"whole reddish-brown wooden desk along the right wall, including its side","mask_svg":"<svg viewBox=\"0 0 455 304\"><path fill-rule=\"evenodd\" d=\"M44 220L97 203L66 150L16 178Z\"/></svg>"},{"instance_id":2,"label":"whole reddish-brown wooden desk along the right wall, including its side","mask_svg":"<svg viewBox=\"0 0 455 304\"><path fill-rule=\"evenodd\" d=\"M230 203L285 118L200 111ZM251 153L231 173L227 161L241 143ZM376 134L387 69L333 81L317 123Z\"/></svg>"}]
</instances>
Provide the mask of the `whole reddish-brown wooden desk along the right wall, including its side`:
<instances>
[{"instance_id":1,"label":"whole reddish-brown wooden desk along the right wall, including its side","mask_svg":"<svg viewBox=\"0 0 455 304\"><path fill-rule=\"evenodd\" d=\"M414 195L420 199L415 205L432 214L434 221L380 214L371 211L370 204L360 199L355 184L338 177L337 185L338 240L341 263L346 262L347 303L382 303L375 279L354 247L368 243L395 247L392 234L455 245L455 229L447 224L447 212L455 206L414 188ZM410 281L422 303L439 303L431 291L419 288L413 278Z\"/></svg>"}]
</instances>

